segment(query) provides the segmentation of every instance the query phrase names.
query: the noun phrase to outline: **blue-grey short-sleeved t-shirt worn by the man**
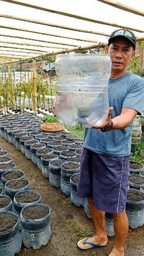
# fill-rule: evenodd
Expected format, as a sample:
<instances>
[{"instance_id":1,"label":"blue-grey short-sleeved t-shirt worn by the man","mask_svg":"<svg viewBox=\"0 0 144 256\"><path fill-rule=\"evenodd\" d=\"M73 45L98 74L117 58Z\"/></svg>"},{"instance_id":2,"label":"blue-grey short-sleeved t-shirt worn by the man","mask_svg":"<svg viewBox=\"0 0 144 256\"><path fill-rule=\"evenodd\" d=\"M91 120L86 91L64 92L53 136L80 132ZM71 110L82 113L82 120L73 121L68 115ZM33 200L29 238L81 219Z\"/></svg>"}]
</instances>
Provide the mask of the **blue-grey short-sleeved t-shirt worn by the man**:
<instances>
[{"instance_id":1,"label":"blue-grey short-sleeved t-shirt worn by the man","mask_svg":"<svg viewBox=\"0 0 144 256\"><path fill-rule=\"evenodd\" d=\"M122 108L135 109L142 114L144 108L144 79L127 72L117 79L109 79L109 106L112 118L120 115ZM132 123L122 130L103 133L93 128L85 129L84 147L93 152L110 156L128 156L131 153Z\"/></svg>"}]
</instances>

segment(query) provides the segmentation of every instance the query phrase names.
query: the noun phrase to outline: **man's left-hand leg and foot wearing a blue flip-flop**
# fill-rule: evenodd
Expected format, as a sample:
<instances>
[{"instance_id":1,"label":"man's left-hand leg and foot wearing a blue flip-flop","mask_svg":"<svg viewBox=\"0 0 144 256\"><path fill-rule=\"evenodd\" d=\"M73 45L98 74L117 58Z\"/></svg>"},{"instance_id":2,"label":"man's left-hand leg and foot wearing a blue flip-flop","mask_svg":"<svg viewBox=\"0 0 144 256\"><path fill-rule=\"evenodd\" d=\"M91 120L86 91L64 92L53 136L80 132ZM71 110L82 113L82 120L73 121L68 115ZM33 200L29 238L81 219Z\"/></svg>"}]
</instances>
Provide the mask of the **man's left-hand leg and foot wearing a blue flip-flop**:
<instances>
[{"instance_id":1,"label":"man's left-hand leg and foot wearing a blue flip-flop","mask_svg":"<svg viewBox=\"0 0 144 256\"><path fill-rule=\"evenodd\" d=\"M88 242L92 242L94 244L107 244L107 234L105 230L105 221L104 221L104 216L105 212L104 211L99 211L93 206L93 199L88 198L88 203L90 205L90 212L92 214L93 222L95 224L95 229L96 229L96 235L93 237L88 238ZM78 246L82 248L89 248L89 244L83 244L84 239L80 240L78 242Z\"/></svg>"}]
</instances>

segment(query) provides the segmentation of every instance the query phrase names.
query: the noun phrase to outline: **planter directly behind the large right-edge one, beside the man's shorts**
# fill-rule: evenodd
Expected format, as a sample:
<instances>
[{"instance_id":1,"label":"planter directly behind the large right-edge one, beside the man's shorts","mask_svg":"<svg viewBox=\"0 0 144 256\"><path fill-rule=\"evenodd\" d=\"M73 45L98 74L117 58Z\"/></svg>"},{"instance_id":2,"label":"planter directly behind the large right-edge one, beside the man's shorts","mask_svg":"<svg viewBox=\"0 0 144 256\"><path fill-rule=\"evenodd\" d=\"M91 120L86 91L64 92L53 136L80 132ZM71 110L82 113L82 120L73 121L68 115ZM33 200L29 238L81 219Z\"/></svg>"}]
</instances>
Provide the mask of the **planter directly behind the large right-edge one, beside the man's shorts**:
<instances>
[{"instance_id":1,"label":"planter directly behind the large right-edge one, beside the man's shorts","mask_svg":"<svg viewBox=\"0 0 144 256\"><path fill-rule=\"evenodd\" d=\"M129 186L130 188L140 189L140 186L144 185L144 178L140 177L139 174L129 175Z\"/></svg>"}]
</instances>

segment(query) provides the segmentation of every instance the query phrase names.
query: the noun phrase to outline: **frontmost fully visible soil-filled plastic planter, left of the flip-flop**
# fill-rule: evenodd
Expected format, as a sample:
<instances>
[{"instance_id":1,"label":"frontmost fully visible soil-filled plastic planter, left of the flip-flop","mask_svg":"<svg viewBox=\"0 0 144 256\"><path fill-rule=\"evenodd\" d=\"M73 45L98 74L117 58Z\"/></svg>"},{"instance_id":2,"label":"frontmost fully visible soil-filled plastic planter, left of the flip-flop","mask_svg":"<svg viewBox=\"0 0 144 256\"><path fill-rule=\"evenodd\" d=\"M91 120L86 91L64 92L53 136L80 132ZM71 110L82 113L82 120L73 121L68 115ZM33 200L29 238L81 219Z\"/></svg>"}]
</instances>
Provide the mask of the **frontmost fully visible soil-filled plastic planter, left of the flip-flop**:
<instances>
[{"instance_id":1,"label":"frontmost fully visible soil-filled plastic planter, left of the flip-flop","mask_svg":"<svg viewBox=\"0 0 144 256\"><path fill-rule=\"evenodd\" d=\"M21 236L24 246L39 249L51 238L51 211L43 203L33 204L21 210Z\"/></svg>"}]
</instances>

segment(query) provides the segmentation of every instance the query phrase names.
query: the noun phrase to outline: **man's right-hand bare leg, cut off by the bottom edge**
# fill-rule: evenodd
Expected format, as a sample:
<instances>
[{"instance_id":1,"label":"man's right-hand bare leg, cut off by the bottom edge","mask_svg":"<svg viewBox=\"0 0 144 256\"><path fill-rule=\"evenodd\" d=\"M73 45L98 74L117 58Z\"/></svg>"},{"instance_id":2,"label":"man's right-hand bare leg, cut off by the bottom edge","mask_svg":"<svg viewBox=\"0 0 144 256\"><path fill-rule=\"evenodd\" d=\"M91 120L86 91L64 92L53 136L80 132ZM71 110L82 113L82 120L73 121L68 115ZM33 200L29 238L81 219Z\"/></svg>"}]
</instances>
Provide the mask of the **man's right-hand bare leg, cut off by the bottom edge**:
<instances>
[{"instance_id":1,"label":"man's right-hand bare leg, cut off by the bottom edge","mask_svg":"<svg viewBox=\"0 0 144 256\"><path fill-rule=\"evenodd\" d=\"M114 230L115 230L115 244L113 246L112 252L109 256L123 256L124 255L124 243L126 241L126 236L128 235L128 217L126 211L121 213L114 213Z\"/></svg>"}]
</instances>

